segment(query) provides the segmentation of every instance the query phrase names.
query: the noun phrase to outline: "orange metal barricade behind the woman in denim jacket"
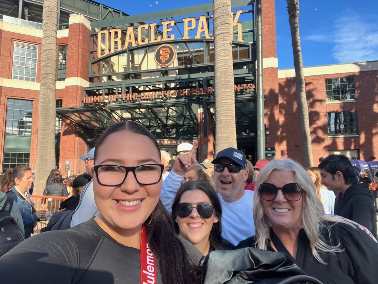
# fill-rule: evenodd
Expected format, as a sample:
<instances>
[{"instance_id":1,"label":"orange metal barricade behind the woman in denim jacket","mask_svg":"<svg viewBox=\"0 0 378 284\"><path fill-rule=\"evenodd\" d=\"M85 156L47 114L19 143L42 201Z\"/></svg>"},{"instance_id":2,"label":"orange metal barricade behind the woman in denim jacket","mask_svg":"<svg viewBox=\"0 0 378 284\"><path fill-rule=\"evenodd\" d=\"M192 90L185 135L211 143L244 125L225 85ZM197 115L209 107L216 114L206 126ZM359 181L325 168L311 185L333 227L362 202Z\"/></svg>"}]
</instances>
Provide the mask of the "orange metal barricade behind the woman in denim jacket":
<instances>
[{"instance_id":1,"label":"orange metal barricade behind the woman in denim jacket","mask_svg":"<svg viewBox=\"0 0 378 284\"><path fill-rule=\"evenodd\" d=\"M36 211L45 209L48 210L51 215L59 211L60 202L67 198L68 197L63 196L31 195L31 200L34 203ZM40 230L45 228L47 223L48 220L37 222L37 226L34 228L34 235L40 233Z\"/></svg>"}]
</instances>

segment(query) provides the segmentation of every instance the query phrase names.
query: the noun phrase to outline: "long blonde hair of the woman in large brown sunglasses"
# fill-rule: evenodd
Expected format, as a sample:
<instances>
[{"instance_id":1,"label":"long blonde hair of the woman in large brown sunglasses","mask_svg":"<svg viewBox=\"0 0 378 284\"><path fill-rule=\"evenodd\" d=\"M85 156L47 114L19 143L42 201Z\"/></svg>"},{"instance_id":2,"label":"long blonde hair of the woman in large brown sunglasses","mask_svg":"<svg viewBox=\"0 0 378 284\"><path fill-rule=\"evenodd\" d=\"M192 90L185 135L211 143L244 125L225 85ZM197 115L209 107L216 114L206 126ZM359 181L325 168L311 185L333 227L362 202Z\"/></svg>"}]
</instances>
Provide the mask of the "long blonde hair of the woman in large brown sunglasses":
<instances>
[{"instance_id":1,"label":"long blonde hair of the woman in large brown sunglasses","mask_svg":"<svg viewBox=\"0 0 378 284\"><path fill-rule=\"evenodd\" d=\"M262 198L259 194L260 184L268 180L268 176L274 170L276 171L291 171L294 172L295 181L299 183L303 189L302 197L302 223L308 239L310 240L310 248L313 256L321 263L325 262L321 258L321 253L335 253L342 251L340 242L336 246L325 243L324 237L319 232L327 230L330 234L329 225L325 222L345 223L353 228L352 224L346 221L339 220L332 216L325 216L324 207L315 193L315 186L306 170L292 159L275 159L270 161L262 170L256 179L256 189L253 198L253 219L256 228L257 247L266 250L267 240L269 238L269 231L271 223L268 217L264 214Z\"/></svg>"}]
</instances>

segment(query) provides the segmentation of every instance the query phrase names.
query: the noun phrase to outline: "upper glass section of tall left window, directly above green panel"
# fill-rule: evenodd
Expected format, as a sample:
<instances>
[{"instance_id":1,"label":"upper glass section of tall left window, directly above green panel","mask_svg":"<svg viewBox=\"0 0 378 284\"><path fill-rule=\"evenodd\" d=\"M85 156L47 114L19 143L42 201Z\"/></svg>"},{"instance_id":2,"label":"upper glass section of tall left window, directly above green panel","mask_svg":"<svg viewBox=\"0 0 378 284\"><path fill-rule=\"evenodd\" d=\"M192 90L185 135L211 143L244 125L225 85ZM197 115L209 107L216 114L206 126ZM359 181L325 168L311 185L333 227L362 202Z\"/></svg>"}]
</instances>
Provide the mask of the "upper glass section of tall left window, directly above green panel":
<instances>
[{"instance_id":1,"label":"upper glass section of tall left window, directly above green panel","mask_svg":"<svg viewBox=\"0 0 378 284\"><path fill-rule=\"evenodd\" d=\"M5 135L31 136L33 101L8 98Z\"/></svg>"}]
</instances>

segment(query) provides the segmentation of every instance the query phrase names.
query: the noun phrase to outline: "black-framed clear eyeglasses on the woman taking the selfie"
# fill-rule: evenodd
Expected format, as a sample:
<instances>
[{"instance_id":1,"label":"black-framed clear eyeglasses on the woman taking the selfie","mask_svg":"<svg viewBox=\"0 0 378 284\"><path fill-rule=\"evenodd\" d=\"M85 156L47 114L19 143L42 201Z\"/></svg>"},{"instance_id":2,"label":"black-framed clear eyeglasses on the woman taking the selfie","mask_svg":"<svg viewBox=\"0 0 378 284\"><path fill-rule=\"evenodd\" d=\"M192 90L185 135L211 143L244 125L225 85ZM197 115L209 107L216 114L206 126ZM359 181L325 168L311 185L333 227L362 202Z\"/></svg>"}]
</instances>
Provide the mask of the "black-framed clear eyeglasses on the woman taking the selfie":
<instances>
[{"instance_id":1,"label":"black-framed clear eyeglasses on the woman taking the selfie","mask_svg":"<svg viewBox=\"0 0 378 284\"><path fill-rule=\"evenodd\" d=\"M96 178L103 186L119 186L124 183L127 173L133 172L136 182L143 185L158 183L163 174L164 165L146 164L136 167L120 165L95 165Z\"/></svg>"}]
</instances>

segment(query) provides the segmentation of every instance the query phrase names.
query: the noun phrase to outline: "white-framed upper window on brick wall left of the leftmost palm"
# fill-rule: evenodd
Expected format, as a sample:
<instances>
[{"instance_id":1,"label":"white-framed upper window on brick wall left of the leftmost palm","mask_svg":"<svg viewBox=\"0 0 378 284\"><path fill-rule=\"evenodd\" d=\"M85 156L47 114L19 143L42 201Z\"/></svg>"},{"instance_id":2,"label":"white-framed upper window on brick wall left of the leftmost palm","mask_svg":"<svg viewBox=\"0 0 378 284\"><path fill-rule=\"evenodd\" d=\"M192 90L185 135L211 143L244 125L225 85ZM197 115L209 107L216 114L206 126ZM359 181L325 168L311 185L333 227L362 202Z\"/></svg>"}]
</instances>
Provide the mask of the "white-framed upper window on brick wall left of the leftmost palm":
<instances>
[{"instance_id":1,"label":"white-framed upper window on brick wall left of the leftmost palm","mask_svg":"<svg viewBox=\"0 0 378 284\"><path fill-rule=\"evenodd\" d=\"M38 45L14 42L12 79L35 82Z\"/></svg>"}]
</instances>

